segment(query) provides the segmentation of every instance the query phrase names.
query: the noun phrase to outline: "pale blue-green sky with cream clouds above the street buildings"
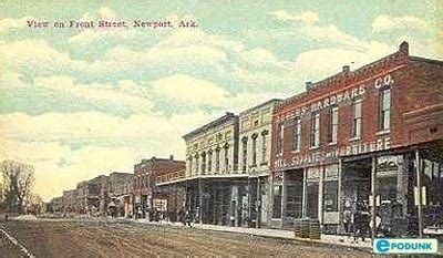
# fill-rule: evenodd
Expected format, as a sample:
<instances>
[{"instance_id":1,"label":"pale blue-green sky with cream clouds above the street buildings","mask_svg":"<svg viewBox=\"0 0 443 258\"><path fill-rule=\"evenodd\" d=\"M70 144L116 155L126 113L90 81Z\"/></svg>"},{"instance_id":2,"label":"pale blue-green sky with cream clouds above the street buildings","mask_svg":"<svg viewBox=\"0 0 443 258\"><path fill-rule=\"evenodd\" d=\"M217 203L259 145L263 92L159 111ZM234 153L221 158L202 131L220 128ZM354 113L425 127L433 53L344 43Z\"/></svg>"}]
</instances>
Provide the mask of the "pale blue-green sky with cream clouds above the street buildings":
<instances>
[{"instance_id":1,"label":"pale blue-green sky with cream clouds above the street buildings","mask_svg":"<svg viewBox=\"0 0 443 258\"><path fill-rule=\"evenodd\" d=\"M96 175L132 173L142 158L183 159L193 128L300 93L402 41L442 60L442 17L436 0L0 1L0 161L34 166L34 192L49 200Z\"/></svg>"}]
</instances>

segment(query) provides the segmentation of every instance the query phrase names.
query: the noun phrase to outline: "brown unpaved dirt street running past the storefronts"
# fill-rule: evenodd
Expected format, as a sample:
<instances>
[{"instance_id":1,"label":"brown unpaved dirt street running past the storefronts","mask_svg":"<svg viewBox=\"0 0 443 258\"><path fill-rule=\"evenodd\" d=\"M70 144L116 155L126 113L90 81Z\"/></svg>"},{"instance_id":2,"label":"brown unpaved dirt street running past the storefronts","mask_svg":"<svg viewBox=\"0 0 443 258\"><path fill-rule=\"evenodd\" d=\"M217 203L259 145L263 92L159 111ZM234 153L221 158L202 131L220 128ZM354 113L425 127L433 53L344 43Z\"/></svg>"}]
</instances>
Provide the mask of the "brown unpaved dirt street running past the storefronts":
<instances>
[{"instance_id":1,"label":"brown unpaved dirt street running past the storefronts","mask_svg":"<svg viewBox=\"0 0 443 258\"><path fill-rule=\"evenodd\" d=\"M8 221L1 227L35 257L370 257L346 247L134 223ZM18 257L0 238L0 257Z\"/></svg>"}]
</instances>

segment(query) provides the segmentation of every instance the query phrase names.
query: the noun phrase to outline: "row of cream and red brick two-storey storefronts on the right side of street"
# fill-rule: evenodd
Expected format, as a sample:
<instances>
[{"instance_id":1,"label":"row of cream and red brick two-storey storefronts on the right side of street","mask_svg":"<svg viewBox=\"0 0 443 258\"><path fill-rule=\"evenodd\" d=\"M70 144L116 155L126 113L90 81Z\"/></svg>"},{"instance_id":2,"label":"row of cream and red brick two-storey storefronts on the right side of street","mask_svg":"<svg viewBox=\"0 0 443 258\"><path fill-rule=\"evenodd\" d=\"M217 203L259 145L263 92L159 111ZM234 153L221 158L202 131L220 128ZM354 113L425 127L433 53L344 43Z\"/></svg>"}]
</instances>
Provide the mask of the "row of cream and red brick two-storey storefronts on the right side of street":
<instances>
[{"instance_id":1,"label":"row of cream and red brick two-storey storefronts on the right side of street","mask_svg":"<svg viewBox=\"0 0 443 258\"><path fill-rule=\"evenodd\" d=\"M205 224L291 228L312 218L324 234L368 235L441 227L442 83L443 62L411 56L403 42L190 132L185 175L157 186L186 189L183 208Z\"/></svg>"}]
</instances>

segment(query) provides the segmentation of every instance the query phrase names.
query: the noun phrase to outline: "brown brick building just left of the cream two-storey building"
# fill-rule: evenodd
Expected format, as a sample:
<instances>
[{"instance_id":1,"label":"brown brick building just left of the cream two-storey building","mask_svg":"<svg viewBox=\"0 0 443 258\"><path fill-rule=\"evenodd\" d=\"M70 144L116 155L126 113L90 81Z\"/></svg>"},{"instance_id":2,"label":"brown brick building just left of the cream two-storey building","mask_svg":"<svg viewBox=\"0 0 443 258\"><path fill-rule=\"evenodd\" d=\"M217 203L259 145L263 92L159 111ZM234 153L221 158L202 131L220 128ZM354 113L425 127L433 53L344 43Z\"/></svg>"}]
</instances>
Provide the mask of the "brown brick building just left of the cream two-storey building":
<instances>
[{"instance_id":1,"label":"brown brick building just left of the cream two-storey building","mask_svg":"<svg viewBox=\"0 0 443 258\"><path fill-rule=\"evenodd\" d=\"M159 209L167 209L168 193L156 186L156 178L185 169L185 162L169 158L142 159L134 166L133 203L137 217L157 219Z\"/></svg>"}]
</instances>

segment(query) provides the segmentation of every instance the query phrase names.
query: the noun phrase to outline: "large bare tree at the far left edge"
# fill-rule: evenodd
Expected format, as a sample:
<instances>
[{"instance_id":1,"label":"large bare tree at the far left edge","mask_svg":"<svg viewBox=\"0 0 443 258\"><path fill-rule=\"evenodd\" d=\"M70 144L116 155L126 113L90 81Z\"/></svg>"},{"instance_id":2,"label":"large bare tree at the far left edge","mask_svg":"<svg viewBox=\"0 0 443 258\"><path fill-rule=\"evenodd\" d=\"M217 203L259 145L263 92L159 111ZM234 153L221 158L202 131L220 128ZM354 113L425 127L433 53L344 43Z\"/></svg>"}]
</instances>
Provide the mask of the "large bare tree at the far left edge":
<instances>
[{"instance_id":1,"label":"large bare tree at the far left edge","mask_svg":"<svg viewBox=\"0 0 443 258\"><path fill-rule=\"evenodd\" d=\"M16 161L1 163L3 174L4 204L7 211L22 214L27 200L31 197L34 183L34 168Z\"/></svg>"}]
</instances>

